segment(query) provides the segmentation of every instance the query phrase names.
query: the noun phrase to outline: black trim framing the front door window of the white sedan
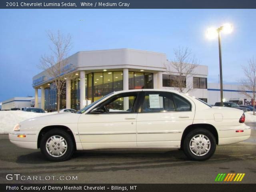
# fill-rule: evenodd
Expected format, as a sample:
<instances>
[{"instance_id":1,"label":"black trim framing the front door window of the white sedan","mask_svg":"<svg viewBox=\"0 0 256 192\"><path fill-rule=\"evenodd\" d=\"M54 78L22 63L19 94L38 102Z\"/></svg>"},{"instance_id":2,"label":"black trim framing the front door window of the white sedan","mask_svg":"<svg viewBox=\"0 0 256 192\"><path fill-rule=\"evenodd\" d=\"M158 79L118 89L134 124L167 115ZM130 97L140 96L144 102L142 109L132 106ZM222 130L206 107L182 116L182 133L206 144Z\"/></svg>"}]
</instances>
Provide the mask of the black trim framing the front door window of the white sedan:
<instances>
[{"instance_id":1,"label":"black trim framing the front door window of the white sedan","mask_svg":"<svg viewBox=\"0 0 256 192\"><path fill-rule=\"evenodd\" d=\"M107 103L109 100L111 100L112 98L118 98L117 96L120 96L120 95L121 95L121 97L122 97L123 95L132 94L132 93L134 93L134 94L137 95L137 97L136 97L136 99L135 99L135 102L134 102L134 105L133 105L132 112L111 112L111 113L101 113L101 114L107 114L107 115L109 115L109 114L137 114L137 113L138 113L138 107L139 107L139 106L138 106L138 104L139 104L138 100L140 99L140 93L141 93L141 92L142 92L142 91L132 91L132 92L124 92L124 93L120 93L120 94L113 95L113 96L111 96L110 98L108 98L108 99L104 100L103 102L101 102L101 103L97 104L96 106L94 106L94 107L93 107L88 113L86 113L86 114L91 114L91 115L92 115L91 111L92 111L94 108L104 106L104 104L106 104L106 103Z\"/></svg>"}]
</instances>

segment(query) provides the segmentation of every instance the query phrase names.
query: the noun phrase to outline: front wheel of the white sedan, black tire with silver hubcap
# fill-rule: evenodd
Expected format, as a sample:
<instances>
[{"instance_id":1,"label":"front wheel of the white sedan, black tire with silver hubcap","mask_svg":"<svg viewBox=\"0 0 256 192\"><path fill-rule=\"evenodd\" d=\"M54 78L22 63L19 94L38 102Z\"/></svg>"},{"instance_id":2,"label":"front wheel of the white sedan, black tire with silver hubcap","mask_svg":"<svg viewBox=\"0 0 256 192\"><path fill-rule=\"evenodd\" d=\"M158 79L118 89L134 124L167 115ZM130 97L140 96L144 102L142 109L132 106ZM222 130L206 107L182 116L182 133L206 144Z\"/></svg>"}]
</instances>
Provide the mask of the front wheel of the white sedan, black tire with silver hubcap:
<instances>
[{"instance_id":1,"label":"front wheel of the white sedan, black tire with silver hubcap","mask_svg":"<svg viewBox=\"0 0 256 192\"><path fill-rule=\"evenodd\" d=\"M74 153L74 142L67 132L54 128L44 134L40 149L43 156L50 161L66 161Z\"/></svg>"}]
</instances>

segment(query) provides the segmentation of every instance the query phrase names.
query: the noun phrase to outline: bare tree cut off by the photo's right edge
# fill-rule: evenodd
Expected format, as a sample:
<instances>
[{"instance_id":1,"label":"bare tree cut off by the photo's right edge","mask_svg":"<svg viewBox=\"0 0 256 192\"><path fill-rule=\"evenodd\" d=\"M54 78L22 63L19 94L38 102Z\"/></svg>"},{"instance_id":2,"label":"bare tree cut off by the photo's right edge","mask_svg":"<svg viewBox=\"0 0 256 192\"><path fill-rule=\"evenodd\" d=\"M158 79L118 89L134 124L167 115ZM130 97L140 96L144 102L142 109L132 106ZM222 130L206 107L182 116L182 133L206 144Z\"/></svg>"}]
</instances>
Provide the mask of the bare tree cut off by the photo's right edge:
<instances>
[{"instance_id":1,"label":"bare tree cut off by the photo's right edge","mask_svg":"<svg viewBox=\"0 0 256 192\"><path fill-rule=\"evenodd\" d=\"M242 66L244 78L238 80L242 94L252 99L253 115L255 115L255 96L256 96L256 60L254 57L248 61L248 66ZM249 94L246 91L251 91Z\"/></svg>"}]
</instances>

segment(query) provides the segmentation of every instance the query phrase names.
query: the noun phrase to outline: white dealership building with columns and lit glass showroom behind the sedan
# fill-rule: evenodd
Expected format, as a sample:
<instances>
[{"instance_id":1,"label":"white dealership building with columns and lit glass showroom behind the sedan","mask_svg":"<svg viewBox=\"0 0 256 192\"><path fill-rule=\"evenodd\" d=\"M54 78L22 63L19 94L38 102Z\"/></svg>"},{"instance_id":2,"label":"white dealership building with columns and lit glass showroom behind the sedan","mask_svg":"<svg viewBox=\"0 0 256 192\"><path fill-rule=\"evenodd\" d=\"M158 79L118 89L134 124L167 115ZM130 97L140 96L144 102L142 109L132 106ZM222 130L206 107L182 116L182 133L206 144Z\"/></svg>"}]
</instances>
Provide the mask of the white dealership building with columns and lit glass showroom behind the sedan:
<instances>
[{"instance_id":1,"label":"white dealership building with columns and lit glass showroom behind the sedan","mask_svg":"<svg viewBox=\"0 0 256 192\"><path fill-rule=\"evenodd\" d=\"M68 57L62 69L66 79L64 93L60 96L60 108L79 110L110 92L129 89L172 89L177 74L166 54L133 49L82 51ZM220 101L218 84L207 83L208 66L198 65L194 74L184 78L189 93L209 104ZM43 71L33 77L35 107L54 111L57 108L57 91L52 79ZM41 104L38 104L41 90ZM240 100L244 96L238 86L224 85L224 98ZM247 98L247 100L249 100Z\"/></svg>"}]
</instances>

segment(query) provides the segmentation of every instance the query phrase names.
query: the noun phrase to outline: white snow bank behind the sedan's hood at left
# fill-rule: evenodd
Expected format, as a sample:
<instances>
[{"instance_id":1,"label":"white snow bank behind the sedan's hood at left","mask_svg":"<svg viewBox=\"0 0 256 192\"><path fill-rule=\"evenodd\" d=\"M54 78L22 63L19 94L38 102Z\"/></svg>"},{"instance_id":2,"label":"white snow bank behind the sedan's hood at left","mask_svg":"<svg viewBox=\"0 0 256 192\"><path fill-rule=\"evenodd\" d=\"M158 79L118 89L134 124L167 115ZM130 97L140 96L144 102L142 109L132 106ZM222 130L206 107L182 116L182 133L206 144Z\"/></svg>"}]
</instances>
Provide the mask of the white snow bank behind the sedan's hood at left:
<instances>
[{"instance_id":1,"label":"white snow bank behind the sedan's hood at left","mask_svg":"<svg viewBox=\"0 0 256 192\"><path fill-rule=\"evenodd\" d=\"M0 111L0 134L8 134L19 122L52 113L34 113L24 111Z\"/></svg>"}]
</instances>

